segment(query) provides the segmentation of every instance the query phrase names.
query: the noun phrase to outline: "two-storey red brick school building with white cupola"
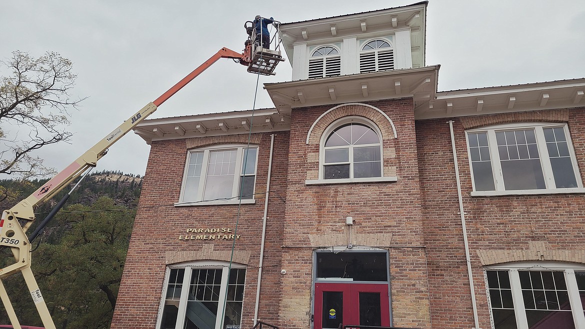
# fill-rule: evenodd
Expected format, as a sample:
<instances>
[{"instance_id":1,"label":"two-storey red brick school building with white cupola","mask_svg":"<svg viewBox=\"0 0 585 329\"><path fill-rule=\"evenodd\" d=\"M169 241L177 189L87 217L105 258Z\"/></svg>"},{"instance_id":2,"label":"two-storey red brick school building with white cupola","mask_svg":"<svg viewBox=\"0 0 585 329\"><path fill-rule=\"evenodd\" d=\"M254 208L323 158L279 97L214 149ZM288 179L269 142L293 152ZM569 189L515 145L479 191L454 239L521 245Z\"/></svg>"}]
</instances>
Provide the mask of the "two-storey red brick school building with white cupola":
<instances>
[{"instance_id":1,"label":"two-storey red brick school building with white cupola","mask_svg":"<svg viewBox=\"0 0 585 329\"><path fill-rule=\"evenodd\" d=\"M140 124L112 328L585 328L585 79L438 91L426 5L285 23L274 108Z\"/></svg>"}]
</instances>

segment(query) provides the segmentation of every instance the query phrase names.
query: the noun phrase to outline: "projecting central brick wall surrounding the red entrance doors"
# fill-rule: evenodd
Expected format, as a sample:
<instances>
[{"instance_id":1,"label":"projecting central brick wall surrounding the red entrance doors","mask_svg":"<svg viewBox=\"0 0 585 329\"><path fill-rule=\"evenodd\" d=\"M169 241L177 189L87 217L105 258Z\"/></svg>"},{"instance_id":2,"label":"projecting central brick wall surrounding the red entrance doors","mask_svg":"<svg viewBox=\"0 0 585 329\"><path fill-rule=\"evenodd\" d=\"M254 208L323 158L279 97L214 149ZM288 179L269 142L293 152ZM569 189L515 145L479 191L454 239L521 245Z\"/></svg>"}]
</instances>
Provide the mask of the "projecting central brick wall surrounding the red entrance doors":
<instances>
[{"instance_id":1,"label":"projecting central brick wall surrounding the red entrance doors","mask_svg":"<svg viewBox=\"0 0 585 329\"><path fill-rule=\"evenodd\" d=\"M389 250L393 324L429 328L414 105L409 98L368 104L383 111L396 126L398 138L389 142L396 153L396 182L305 185L307 172L318 169L307 160L318 152L318 145L306 144L307 133L319 115L335 105L292 110L283 236L287 275L283 276L283 320L279 323L283 328L310 327L313 248L309 238L344 234L347 215L355 221L355 234L392 234L388 245L379 247Z\"/></svg>"}]
</instances>

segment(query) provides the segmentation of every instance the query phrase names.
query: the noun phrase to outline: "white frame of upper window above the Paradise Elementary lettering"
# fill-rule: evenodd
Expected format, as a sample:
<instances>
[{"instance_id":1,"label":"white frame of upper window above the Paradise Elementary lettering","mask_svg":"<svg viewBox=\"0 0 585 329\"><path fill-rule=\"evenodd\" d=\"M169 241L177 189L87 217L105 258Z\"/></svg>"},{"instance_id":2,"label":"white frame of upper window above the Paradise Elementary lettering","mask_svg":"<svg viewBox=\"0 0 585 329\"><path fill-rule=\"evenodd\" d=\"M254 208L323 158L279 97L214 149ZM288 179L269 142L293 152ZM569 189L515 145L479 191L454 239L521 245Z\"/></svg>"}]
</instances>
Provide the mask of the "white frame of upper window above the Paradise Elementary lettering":
<instances>
[{"instance_id":1,"label":"white frame of upper window above the Paradise Elementary lettering","mask_svg":"<svg viewBox=\"0 0 585 329\"><path fill-rule=\"evenodd\" d=\"M199 149L191 149L187 152L187 159L185 160L185 169L183 173L183 183L181 183L181 194L178 203L176 206L184 206L184 205L212 205L212 204L252 204L256 203L254 197L249 199L242 199L238 197L239 188L240 188L240 177L244 176L242 174L242 166L243 166L243 155L245 149L256 149L256 161L254 162L254 176L257 179L257 166L258 166L258 157L259 157L259 148L256 145L244 145L244 144L228 144L228 145L215 145L210 146L208 148L199 148ZM232 186L232 196L229 200L203 200L203 195L205 191L205 184L207 180L207 167L209 163L209 152L211 151L219 151L219 150L238 150L236 156L236 168L234 171L234 181ZM192 153L197 152L204 152L203 153L203 163L201 169L201 179L199 180L199 189L197 191L197 198L195 200L184 200L185 194L185 187L187 185L187 172L189 166L189 160L191 158ZM246 174L246 176L250 176L250 174ZM254 179L254 189L256 189L256 179ZM255 190L254 190L255 191Z\"/></svg>"}]
</instances>

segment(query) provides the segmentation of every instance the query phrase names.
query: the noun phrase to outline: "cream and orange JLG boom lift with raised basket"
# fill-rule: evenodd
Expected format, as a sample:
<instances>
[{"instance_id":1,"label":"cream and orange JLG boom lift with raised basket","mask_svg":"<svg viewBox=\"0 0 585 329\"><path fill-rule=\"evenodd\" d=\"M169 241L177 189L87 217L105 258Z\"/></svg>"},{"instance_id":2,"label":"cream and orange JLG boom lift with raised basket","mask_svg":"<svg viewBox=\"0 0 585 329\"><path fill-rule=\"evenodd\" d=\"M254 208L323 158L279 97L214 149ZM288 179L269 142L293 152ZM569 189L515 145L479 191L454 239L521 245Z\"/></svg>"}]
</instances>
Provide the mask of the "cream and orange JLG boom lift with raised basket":
<instances>
[{"instance_id":1,"label":"cream and orange JLG boom lift with raised basket","mask_svg":"<svg viewBox=\"0 0 585 329\"><path fill-rule=\"evenodd\" d=\"M276 35L276 33L275 33ZM53 319L49 314L47 305L43 299L43 295L39 290L39 286L35 280L35 276L30 269L31 263L31 251L30 241L32 241L37 234L43 229L44 225L50 220L51 215L39 225L39 227L33 232L33 234L27 237L26 231L35 221L34 208L37 205L50 200L55 194L59 193L71 182L81 176L91 167L95 167L101 157L105 156L108 152L108 148L117 142L123 135L128 133L130 130L135 128L140 122L152 114L156 109L163 104L168 98L174 95L177 91L183 88L185 85L191 82L195 77L205 71L209 66L214 64L221 58L228 58L238 60L240 64L247 66L247 70L252 73L273 75L274 68L276 65L284 59L280 56L278 50L270 50L262 48L257 44L254 44L255 38L254 33L248 33L248 40L245 43L245 50L242 54L236 53L233 50L222 48L211 56L205 63L195 68L190 74L179 81L172 88L162 94L159 98L146 104L140 111L136 112L130 118L124 121L118 128L114 129L111 133L105 136L104 139L100 140L96 145L87 150L83 155L78 157L71 165L67 166L55 177L47 181L42 187L36 190L33 194L25 200L20 201L10 210L2 212L2 219L0 220L0 248L10 248L12 255L14 256L15 262L5 268L0 269L0 297L8 317L16 329L21 329L16 313L12 307L12 303L6 293L4 283L2 279L8 277L14 273L21 272L25 279L26 286L29 289L30 295L37 311L39 312L40 318L43 321L43 325L46 329L56 329L53 323ZM276 46L278 47L278 45ZM57 205L56 210L51 211L51 214L56 213L60 207L64 204L67 197Z\"/></svg>"}]
</instances>

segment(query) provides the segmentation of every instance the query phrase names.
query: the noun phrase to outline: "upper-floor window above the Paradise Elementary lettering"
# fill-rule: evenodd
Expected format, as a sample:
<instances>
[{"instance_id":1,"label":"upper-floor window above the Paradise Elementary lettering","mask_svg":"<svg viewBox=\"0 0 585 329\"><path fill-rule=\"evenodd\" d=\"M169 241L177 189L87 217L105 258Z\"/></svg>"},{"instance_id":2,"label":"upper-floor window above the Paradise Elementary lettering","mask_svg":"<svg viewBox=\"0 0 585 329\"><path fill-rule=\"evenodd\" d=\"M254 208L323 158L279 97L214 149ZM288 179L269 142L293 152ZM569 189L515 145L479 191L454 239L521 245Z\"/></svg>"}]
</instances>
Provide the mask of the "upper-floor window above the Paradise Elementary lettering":
<instances>
[{"instance_id":1,"label":"upper-floor window above the Paradise Elementary lettering","mask_svg":"<svg viewBox=\"0 0 585 329\"><path fill-rule=\"evenodd\" d=\"M237 145L191 150L181 203L253 199L257 153Z\"/></svg>"}]
</instances>

